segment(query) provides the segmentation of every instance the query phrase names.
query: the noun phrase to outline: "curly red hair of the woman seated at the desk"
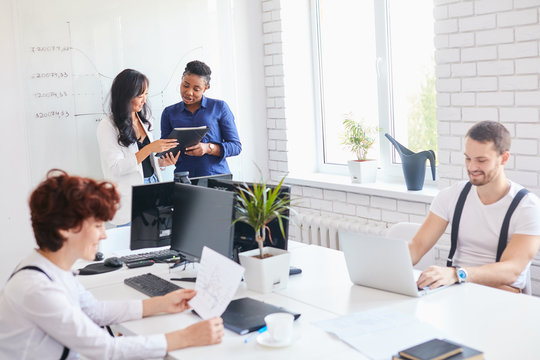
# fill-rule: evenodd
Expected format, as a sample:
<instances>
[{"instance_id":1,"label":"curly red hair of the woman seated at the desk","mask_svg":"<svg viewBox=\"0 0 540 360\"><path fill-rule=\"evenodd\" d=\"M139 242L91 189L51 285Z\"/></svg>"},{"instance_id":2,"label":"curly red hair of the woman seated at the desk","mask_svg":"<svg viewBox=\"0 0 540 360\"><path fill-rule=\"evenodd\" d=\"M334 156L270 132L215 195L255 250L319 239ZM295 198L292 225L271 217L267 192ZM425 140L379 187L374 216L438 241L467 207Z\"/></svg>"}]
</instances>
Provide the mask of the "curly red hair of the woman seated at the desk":
<instances>
[{"instance_id":1,"label":"curly red hair of the woman seated at the desk","mask_svg":"<svg viewBox=\"0 0 540 360\"><path fill-rule=\"evenodd\" d=\"M80 229L84 220L113 218L120 196L113 184L70 176L52 169L30 195L30 216L37 244L42 250L57 251L65 239L59 230Z\"/></svg>"}]
</instances>

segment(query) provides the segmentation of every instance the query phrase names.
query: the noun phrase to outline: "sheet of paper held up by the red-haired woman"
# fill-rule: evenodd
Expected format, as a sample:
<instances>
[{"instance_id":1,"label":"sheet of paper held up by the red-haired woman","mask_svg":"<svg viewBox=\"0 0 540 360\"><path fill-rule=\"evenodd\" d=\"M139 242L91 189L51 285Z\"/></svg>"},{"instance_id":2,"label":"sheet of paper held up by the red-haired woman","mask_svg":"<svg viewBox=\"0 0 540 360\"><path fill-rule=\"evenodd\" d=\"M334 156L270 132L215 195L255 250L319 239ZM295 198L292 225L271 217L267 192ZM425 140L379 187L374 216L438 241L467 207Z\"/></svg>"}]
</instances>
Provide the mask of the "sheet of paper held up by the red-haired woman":
<instances>
[{"instance_id":1,"label":"sheet of paper held up by the red-haired woman","mask_svg":"<svg viewBox=\"0 0 540 360\"><path fill-rule=\"evenodd\" d=\"M242 266L205 246L195 282L197 295L189 304L203 319L221 316L236 293L243 275Z\"/></svg>"}]
</instances>

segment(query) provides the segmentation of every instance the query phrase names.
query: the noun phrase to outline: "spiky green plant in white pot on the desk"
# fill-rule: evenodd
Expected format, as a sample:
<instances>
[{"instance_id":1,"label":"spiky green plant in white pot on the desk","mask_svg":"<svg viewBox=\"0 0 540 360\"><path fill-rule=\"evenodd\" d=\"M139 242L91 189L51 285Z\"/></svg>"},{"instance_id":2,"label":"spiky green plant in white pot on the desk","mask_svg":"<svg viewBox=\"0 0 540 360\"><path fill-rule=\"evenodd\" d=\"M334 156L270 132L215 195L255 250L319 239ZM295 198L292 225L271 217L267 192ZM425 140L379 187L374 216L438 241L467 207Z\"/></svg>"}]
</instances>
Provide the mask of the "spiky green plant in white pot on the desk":
<instances>
[{"instance_id":1,"label":"spiky green plant in white pot on the desk","mask_svg":"<svg viewBox=\"0 0 540 360\"><path fill-rule=\"evenodd\" d=\"M236 219L253 228L258 248L238 254L245 268L244 278L249 289L267 293L287 287L290 254L283 249L264 247L266 234L272 243L272 234L267 224L277 219L281 233L285 236L283 220L288 219L291 198L281 191L283 181L275 186L267 185L264 179L251 186L241 185L237 189Z\"/></svg>"}]
</instances>

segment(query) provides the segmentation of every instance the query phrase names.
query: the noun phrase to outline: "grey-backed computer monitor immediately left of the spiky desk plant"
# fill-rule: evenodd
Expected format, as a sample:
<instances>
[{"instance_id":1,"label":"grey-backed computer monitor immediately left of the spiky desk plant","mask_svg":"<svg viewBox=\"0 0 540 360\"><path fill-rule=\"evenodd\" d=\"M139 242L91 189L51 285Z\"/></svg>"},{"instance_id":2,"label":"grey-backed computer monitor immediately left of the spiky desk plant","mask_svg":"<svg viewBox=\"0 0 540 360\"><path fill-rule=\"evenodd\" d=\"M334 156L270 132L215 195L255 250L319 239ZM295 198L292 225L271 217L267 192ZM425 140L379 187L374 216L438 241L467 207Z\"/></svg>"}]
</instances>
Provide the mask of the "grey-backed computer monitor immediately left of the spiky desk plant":
<instances>
[{"instance_id":1,"label":"grey-backed computer monitor immediately left of the spiky desk plant","mask_svg":"<svg viewBox=\"0 0 540 360\"><path fill-rule=\"evenodd\" d=\"M230 191L174 184L171 249L197 261L207 246L232 259L234 199Z\"/></svg>"}]
</instances>

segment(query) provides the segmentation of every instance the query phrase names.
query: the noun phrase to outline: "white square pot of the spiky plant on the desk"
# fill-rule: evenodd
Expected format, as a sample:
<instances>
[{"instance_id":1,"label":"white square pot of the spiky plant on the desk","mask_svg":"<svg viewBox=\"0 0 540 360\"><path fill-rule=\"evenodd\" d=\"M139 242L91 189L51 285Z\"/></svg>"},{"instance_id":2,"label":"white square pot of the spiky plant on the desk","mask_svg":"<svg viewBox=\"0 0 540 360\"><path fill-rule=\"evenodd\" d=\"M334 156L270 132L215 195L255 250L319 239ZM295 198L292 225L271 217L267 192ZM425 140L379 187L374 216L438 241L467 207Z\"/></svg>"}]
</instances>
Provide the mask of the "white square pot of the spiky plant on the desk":
<instances>
[{"instance_id":1,"label":"white square pot of the spiky plant on the desk","mask_svg":"<svg viewBox=\"0 0 540 360\"><path fill-rule=\"evenodd\" d=\"M248 289L261 293L285 289L289 281L289 264L291 254L287 250L264 247L264 254L273 256L259 259L259 249L244 251L238 254L240 264L244 267L244 279Z\"/></svg>"}]
</instances>

